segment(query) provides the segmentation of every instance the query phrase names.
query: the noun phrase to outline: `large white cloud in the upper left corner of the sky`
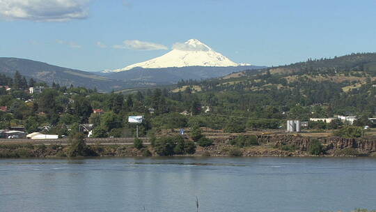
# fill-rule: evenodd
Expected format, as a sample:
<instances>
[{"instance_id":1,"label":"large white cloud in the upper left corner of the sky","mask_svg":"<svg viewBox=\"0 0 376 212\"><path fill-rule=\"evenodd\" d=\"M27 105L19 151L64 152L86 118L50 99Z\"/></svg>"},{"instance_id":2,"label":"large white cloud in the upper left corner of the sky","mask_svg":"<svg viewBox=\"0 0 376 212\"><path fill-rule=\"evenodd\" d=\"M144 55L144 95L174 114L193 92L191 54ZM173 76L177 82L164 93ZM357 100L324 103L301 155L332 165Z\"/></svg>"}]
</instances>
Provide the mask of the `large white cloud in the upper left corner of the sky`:
<instances>
[{"instance_id":1,"label":"large white cloud in the upper left corner of the sky","mask_svg":"<svg viewBox=\"0 0 376 212\"><path fill-rule=\"evenodd\" d=\"M0 16L7 20L64 22L88 17L90 0L0 0Z\"/></svg>"}]
</instances>

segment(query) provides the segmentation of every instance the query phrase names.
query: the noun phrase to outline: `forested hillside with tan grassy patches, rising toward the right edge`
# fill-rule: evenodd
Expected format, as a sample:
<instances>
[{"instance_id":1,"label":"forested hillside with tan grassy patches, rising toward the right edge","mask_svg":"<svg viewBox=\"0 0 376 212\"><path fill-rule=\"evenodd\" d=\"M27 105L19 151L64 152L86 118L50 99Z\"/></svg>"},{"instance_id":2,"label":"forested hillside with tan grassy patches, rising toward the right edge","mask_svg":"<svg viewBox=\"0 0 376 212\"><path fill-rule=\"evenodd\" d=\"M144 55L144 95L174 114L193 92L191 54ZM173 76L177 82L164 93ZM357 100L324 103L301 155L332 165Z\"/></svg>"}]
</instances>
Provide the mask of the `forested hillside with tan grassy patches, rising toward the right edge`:
<instances>
[{"instance_id":1,"label":"forested hillside with tan grassy patches, rising toward the right edge","mask_svg":"<svg viewBox=\"0 0 376 212\"><path fill-rule=\"evenodd\" d=\"M376 110L375 80L376 54L366 53L308 59L202 82L182 81L173 92L188 90L202 98L212 96L215 100L207 99L207 103L220 105L227 114L265 116L267 108L288 112L298 105L301 111L296 116L305 119L334 114L372 116ZM320 112L312 111L313 105L320 105Z\"/></svg>"}]
</instances>

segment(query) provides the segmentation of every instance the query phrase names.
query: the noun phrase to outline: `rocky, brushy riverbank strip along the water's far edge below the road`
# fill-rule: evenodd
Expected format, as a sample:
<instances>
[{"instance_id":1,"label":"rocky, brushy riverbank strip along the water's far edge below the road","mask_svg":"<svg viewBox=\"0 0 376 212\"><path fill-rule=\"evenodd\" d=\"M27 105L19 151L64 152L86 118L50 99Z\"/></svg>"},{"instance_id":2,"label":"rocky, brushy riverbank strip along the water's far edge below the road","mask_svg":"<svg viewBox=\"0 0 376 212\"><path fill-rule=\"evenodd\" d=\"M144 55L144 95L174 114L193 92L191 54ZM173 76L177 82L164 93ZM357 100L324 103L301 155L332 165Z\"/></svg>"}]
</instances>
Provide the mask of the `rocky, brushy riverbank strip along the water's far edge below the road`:
<instances>
[{"instance_id":1,"label":"rocky, brushy riverbank strip along the water's far edge below the road","mask_svg":"<svg viewBox=\"0 0 376 212\"><path fill-rule=\"evenodd\" d=\"M324 147L325 148L325 147ZM138 157L158 156L152 146L136 149L133 145L91 145L95 156L99 157ZM6 144L0 145L0 158L49 158L67 157L69 146L58 144ZM180 155L181 156L181 155ZM212 146L196 146L196 152L185 156L242 156L242 157L308 157L308 156L376 156L373 152L363 152L354 148L339 149L336 151L323 151L313 155L308 151L299 149L292 144L279 145L267 143L258 146L239 148L229 144L214 144Z\"/></svg>"}]
</instances>

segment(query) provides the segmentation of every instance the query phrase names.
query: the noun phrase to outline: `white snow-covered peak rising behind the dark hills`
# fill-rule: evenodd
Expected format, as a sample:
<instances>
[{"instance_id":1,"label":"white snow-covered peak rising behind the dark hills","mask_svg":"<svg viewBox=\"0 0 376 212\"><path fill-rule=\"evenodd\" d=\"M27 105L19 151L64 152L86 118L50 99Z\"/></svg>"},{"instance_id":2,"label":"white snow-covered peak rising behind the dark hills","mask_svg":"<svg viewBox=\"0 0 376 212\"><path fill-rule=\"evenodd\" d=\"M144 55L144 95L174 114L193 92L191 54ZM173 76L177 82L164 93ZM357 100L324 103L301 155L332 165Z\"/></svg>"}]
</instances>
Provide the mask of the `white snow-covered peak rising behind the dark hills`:
<instances>
[{"instance_id":1,"label":"white snow-covered peak rising behind the dark hills","mask_svg":"<svg viewBox=\"0 0 376 212\"><path fill-rule=\"evenodd\" d=\"M187 67L187 66L212 66L212 67L228 67L228 66L250 66L246 63L234 63L226 56L215 52L199 40L190 39L185 43L176 43L173 50L141 63L116 70L105 70L103 73L121 72L131 70L132 68L170 68L170 67Z\"/></svg>"}]
</instances>

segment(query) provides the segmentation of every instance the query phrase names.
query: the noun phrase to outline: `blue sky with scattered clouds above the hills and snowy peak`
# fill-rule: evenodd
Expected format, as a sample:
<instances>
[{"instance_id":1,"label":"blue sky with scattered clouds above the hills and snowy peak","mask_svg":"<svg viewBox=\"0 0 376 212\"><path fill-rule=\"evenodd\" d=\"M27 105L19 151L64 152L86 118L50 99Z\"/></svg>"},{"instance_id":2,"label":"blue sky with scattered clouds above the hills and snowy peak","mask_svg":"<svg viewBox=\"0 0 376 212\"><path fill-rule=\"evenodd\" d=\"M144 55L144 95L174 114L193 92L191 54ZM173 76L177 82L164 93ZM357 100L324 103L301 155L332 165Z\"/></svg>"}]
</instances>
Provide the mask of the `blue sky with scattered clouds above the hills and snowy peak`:
<instances>
[{"instance_id":1,"label":"blue sky with scattered clouds above the hills and snowy peak","mask_svg":"<svg viewBox=\"0 0 376 212\"><path fill-rule=\"evenodd\" d=\"M237 63L278 66L376 52L375 21L375 0L0 0L0 56L96 71L196 38Z\"/></svg>"}]
</instances>

